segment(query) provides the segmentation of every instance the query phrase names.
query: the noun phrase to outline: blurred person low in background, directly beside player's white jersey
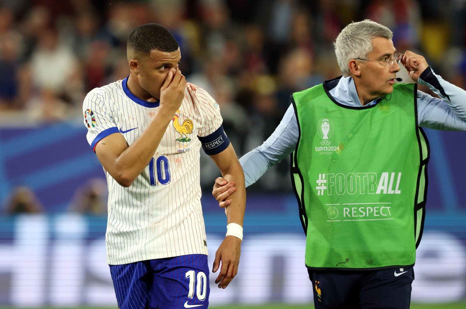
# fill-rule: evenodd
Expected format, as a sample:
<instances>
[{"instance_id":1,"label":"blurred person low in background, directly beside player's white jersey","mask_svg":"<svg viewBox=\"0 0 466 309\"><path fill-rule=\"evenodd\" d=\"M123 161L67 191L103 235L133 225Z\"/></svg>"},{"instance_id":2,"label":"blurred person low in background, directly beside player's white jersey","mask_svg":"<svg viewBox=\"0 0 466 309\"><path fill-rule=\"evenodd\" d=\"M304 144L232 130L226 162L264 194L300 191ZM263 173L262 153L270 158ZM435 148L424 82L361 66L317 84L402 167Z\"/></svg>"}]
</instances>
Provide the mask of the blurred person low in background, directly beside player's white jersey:
<instances>
[{"instance_id":1,"label":"blurred person low in background, directly beside player's white jersey","mask_svg":"<svg viewBox=\"0 0 466 309\"><path fill-rule=\"evenodd\" d=\"M102 178L89 179L75 192L69 210L86 215L106 215L109 191Z\"/></svg>"}]
</instances>

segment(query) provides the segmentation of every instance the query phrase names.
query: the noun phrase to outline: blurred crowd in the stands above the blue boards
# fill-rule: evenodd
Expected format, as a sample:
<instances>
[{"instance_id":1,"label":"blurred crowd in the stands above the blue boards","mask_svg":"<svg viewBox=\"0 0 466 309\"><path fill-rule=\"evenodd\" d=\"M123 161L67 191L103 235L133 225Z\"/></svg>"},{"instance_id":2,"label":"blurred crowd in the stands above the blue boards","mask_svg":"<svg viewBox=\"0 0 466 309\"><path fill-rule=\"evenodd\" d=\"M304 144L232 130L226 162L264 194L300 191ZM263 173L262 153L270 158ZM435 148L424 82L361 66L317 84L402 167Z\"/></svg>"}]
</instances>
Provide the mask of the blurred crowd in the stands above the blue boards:
<instances>
[{"instance_id":1,"label":"blurred crowd in the stands above the blue boards","mask_svg":"<svg viewBox=\"0 0 466 309\"><path fill-rule=\"evenodd\" d=\"M466 0L0 0L0 121L82 119L87 92L129 74L131 31L156 22L177 38L187 80L219 103L241 156L274 131L292 92L341 75L332 43L351 21L391 28L398 51L465 87L465 13ZM289 190L284 161L256 188ZM211 188L217 171L205 164Z\"/></svg>"}]
</instances>

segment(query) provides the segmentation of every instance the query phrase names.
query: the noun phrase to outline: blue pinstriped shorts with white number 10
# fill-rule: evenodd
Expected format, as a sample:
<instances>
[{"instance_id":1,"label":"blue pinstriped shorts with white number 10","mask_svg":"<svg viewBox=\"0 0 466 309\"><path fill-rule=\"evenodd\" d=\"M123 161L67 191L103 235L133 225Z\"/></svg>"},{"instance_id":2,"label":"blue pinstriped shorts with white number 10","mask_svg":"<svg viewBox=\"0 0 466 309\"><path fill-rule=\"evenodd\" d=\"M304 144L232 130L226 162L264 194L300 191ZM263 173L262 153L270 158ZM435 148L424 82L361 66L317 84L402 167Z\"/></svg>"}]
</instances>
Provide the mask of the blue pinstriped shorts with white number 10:
<instances>
[{"instance_id":1,"label":"blue pinstriped shorts with white number 10","mask_svg":"<svg viewBox=\"0 0 466 309\"><path fill-rule=\"evenodd\" d=\"M110 265L120 309L207 308L207 255L181 255Z\"/></svg>"}]
</instances>

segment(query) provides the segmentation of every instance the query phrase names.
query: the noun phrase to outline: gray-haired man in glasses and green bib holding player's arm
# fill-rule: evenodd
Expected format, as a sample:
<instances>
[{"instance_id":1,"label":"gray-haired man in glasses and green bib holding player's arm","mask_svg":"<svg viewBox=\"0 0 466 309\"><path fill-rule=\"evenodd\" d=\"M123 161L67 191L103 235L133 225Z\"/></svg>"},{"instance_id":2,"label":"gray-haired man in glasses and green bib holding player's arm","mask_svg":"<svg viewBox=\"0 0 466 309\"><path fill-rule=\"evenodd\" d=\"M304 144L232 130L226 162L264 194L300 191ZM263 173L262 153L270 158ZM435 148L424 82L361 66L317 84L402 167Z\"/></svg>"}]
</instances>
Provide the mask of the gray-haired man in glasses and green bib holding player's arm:
<instances>
[{"instance_id":1,"label":"gray-haired man in glasses and green bib holding player's arm","mask_svg":"<svg viewBox=\"0 0 466 309\"><path fill-rule=\"evenodd\" d=\"M371 20L347 25L334 44L343 77L294 93L240 159L249 186L291 154L315 308L409 308L429 159L420 127L466 131L466 92L391 39ZM399 63L441 99L395 84ZM228 207L234 190L219 178L212 194Z\"/></svg>"}]
</instances>

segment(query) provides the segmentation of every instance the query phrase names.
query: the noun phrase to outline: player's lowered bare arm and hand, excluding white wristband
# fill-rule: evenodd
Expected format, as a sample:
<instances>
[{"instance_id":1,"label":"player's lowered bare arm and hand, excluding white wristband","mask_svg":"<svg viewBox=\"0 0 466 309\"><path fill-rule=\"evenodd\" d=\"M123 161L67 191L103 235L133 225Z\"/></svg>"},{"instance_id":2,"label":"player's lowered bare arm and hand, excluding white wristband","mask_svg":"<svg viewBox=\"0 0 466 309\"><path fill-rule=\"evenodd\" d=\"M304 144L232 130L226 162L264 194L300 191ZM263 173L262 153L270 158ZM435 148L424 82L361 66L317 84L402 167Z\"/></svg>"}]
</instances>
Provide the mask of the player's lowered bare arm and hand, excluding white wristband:
<instances>
[{"instance_id":1,"label":"player's lowered bare arm and hand, excluding white wristband","mask_svg":"<svg viewBox=\"0 0 466 309\"><path fill-rule=\"evenodd\" d=\"M223 178L233 182L236 186L235 192L230 196L230 204L225 208L227 224L236 223L242 227L246 208L246 188L240 161L238 161L231 144L218 155L211 155L211 158L219 167ZM228 235L215 253L212 272L220 269L219 275L215 279L215 283L219 284L219 288L225 289L238 273L240 249L241 239Z\"/></svg>"}]
</instances>

